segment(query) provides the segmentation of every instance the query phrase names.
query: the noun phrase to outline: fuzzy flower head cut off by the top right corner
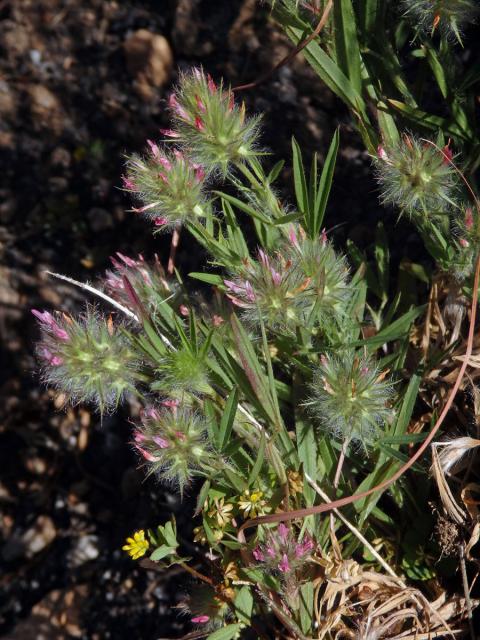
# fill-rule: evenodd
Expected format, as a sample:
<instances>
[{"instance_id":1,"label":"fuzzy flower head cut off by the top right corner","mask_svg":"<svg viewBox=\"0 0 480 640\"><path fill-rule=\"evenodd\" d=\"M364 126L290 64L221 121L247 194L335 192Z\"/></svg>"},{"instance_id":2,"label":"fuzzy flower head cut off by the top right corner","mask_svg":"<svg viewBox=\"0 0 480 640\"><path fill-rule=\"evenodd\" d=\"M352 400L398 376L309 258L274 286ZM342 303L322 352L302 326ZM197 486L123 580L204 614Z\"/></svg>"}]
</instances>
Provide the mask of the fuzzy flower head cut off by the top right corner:
<instances>
[{"instance_id":1,"label":"fuzzy flower head cut off by the top right corner","mask_svg":"<svg viewBox=\"0 0 480 640\"><path fill-rule=\"evenodd\" d=\"M402 0L405 15L425 33L435 31L462 43L461 33L479 15L477 0Z\"/></svg>"}]
</instances>

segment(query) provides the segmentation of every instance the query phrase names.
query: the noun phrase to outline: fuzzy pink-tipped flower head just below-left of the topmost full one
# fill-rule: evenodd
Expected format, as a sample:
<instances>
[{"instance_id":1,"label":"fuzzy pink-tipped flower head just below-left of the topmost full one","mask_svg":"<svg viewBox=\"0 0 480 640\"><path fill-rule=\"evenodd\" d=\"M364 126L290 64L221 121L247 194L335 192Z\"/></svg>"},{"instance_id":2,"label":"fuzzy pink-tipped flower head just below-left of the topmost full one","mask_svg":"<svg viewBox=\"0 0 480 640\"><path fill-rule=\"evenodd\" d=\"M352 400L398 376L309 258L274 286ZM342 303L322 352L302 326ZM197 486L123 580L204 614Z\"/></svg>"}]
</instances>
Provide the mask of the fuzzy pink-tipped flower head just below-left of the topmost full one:
<instances>
[{"instance_id":1,"label":"fuzzy pink-tipped flower head just below-left of the topmost full one","mask_svg":"<svg viewBox=\"0 0 480 640\"><path fill-rule=\"evenodd\" d=\"M133 193L143 206L134 208L158 229L171 229L187 220L205 215L203 192L205 172L178 149L160 149L148 141L148 156L132 156L127 162L125 190Z\"/></svg>"}]
</instances>

